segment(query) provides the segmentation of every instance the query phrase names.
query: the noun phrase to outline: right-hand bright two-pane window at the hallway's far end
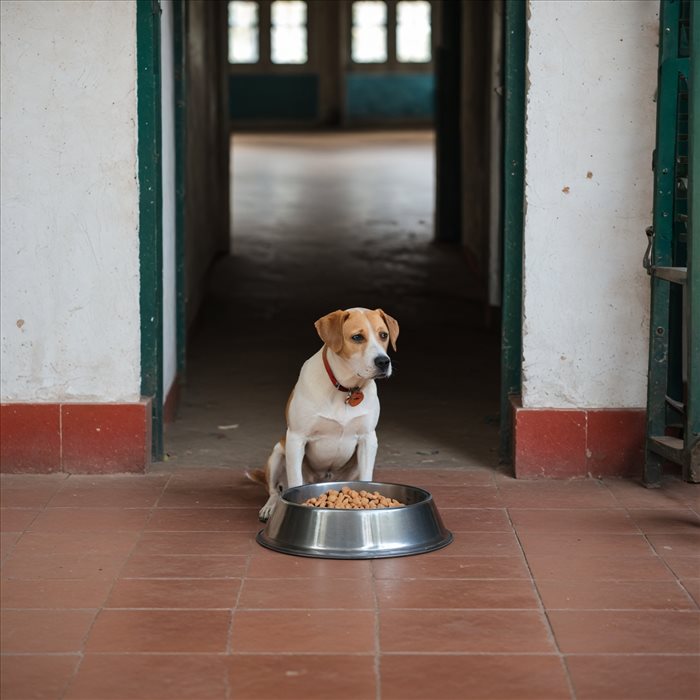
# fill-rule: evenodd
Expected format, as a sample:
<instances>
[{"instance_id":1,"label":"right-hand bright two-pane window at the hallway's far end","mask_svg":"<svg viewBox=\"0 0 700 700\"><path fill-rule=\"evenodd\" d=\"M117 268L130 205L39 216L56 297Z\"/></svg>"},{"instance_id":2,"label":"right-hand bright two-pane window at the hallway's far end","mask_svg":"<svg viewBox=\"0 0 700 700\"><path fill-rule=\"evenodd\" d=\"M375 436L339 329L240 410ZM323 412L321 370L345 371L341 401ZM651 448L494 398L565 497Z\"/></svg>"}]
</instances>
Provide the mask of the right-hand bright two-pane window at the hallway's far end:
<instances>
[{"instance_id":1,"label":"right-hand bright two-pane window at the hallway's far end","mask_svg":"<svg viewBox=\"0 0 700 700\"><path fill-rule=\"evenodd\" d=\"M353 63L430 63L431 4L428 0L355 0L350 57Z\"/></svg>"}]
</instances>

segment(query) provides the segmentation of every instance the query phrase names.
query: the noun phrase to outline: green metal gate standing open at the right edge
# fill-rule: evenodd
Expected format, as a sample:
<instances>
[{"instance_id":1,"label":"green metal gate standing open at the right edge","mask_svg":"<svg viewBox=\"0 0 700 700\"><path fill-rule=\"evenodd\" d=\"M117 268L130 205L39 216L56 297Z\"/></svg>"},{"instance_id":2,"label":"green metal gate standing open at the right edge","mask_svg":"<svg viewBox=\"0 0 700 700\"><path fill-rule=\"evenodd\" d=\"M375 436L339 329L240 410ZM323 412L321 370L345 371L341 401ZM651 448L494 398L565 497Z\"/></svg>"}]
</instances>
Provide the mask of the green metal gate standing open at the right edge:
<instances>
[{"instance_id":1,"label":"green metal gate standing open at the right edge","mask_svg":"<svg viewBox=\"0 0 700 700\"><path fill-rule=\"evenodd\" d=\"M651 275L644 465L650 487L660 484L666 461L680 464L685 480L700 481L698 11L691 0L661 2L654 218L644 258Z\"/></svg>"}]
</instances>

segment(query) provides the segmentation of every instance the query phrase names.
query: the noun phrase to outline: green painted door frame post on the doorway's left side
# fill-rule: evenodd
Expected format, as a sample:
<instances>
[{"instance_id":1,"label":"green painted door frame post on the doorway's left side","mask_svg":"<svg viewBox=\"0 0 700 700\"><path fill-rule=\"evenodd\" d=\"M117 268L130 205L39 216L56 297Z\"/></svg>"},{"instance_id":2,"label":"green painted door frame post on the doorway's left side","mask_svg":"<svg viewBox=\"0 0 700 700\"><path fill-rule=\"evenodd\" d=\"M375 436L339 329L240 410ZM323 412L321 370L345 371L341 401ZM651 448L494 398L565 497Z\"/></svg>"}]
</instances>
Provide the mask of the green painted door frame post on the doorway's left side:
<instances>
[{"instance_id":1,"label":"green painted door frame post on the doorway's left side","mask_svg":"<svg viewBox=\"0 0 700 700\"><path fill-rule=\"evenodd\" d=\"M163 173L160 3L136 2L141 395L152 399L152 458L163 458Z\"/></svg>"}]
</instances>

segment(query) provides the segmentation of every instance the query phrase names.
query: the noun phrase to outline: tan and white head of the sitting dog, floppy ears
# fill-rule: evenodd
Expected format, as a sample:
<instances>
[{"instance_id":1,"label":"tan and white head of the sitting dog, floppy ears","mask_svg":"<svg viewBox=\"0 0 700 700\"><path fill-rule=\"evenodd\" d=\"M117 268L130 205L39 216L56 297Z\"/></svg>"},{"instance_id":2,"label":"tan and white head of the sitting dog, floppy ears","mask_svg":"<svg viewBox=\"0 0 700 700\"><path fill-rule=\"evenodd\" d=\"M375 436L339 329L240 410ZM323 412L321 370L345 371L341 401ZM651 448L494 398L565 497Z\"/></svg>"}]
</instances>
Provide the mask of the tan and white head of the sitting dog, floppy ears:
<instances>
[{"instance_id":1,"label":"tan and white head of the sitting dog, floppy ears","mask_svg":"<svg viewBox=\"0 0 700 700\"><path fill-rule=\"evenodd\" d=\"M363 379L391 376L389 344L396 350L399 324L381 309L334 311L316 321L321 340Z\"/></svg>"}]
</instances>

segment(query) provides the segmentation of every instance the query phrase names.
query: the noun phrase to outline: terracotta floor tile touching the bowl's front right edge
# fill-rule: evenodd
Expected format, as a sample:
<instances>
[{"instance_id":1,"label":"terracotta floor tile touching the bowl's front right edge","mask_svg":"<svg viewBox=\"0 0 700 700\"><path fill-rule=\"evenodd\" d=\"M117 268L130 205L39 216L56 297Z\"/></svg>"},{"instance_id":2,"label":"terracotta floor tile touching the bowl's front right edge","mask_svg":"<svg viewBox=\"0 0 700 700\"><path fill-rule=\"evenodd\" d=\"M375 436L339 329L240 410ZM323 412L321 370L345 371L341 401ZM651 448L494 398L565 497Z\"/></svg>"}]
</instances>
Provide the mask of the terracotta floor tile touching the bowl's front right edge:
<instances>
[{"instance_id":1,"label":"terracotta floor tile touching the bowl's front right edge","mask_svg":"<svg viewBox=\"0 0 700 700\"><path fill-rule=\"evenodd\" d=\"M372 562L372 568L377 579L530 579L530 572L522 556L453 557L436 553L419 557L376 559Z\"/></svg>"}]
</instances>

